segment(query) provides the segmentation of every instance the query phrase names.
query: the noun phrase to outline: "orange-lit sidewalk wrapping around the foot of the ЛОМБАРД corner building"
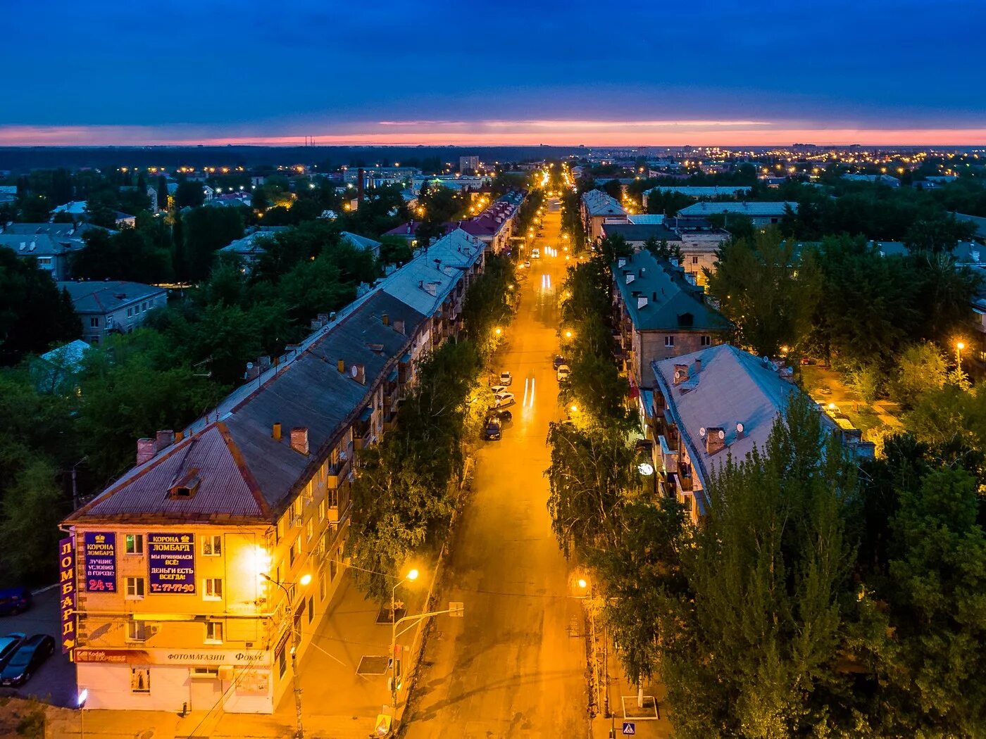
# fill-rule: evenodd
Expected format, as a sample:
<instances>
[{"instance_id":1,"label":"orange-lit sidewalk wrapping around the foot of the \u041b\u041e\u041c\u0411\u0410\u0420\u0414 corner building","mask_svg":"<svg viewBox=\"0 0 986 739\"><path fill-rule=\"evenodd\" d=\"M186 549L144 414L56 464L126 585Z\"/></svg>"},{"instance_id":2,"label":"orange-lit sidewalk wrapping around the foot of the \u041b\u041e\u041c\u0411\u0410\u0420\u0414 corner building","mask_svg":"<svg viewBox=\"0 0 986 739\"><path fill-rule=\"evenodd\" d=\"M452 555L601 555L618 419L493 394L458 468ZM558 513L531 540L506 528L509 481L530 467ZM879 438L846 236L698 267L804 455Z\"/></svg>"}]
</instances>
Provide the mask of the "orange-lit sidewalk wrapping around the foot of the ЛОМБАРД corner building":
<instances>
[{"instance_id":1,"label":"orange-lit sidewalk wrapping around the foot of the \u041b\u041e\u041c\u0411\u0410\u0420\u0414 corner building","mask_svg":"<svg viewBox=\"0 0 986 739\"><path fill-rule=\"evenodd\" d=\"M302 716L307 739L367 739L377 715L389 704L387 654L390 625L378 624L380 604L368 601L343 571L339 590L300 663ZM398 600L420 611L428 581L404 590ZM304 631L304 629L303 629ZM307 634L307 633L306 633ZM413 632L399 639L410 643ZM364 656L379 656L380 674L357 674ZM406 683L406 672L405 672ZM81 729L85 729L85 733ZM281 739L296 731L295 699L289 689L272 715L193 711L185 717L166 711L87 710L59 714L48 722L48 737L100 739Z\"/></svg>"}]
</instances>

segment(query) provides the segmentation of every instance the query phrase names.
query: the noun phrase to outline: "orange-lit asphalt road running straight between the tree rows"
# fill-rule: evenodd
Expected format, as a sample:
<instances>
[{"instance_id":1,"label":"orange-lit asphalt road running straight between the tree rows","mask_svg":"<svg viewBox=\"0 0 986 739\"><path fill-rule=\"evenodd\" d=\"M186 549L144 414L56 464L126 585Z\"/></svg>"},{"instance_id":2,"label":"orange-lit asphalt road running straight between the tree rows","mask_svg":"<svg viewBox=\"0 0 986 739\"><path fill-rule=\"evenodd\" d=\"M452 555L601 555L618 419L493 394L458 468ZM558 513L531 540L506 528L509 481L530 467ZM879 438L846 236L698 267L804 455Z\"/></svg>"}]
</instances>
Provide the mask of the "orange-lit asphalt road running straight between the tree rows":
<instances>
[{"instance_id":1,"label":"orange-lit asphalt road running straight between the tree rows","mask_svg":"<svg viewBox=\"0 0 986 739\"><path fill-rule=\"evenodd\" d=\"M406 715L409 739L584 737L586 641L581 601L546 507L548 422L562 417L551 361L565 277L557 204L534 245L518 314L492 370L517 397L501 441L478 454L445 581L464 618L439 617ZM558 247L559 256L545 253Z\"/></svg>"}]
</instances>

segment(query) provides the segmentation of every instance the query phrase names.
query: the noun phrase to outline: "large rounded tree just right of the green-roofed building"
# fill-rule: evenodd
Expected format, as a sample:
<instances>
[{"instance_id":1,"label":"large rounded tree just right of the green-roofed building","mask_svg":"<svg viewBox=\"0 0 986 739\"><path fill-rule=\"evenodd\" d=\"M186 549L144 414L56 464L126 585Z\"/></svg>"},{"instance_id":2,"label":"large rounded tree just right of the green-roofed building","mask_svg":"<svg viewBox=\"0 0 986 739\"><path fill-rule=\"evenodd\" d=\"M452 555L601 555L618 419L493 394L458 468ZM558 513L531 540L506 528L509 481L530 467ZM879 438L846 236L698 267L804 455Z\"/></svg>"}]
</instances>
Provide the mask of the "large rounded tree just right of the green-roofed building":
<instances>
[{"instance_id":1,"label":"large rounded tree just right of the green-roofed building","mask_svg":"<svg viewBox=\"0 0 986 739\"><path fill-rule=\"evenodd\" d=\"M821 294L821 275L811 252L776 230L723 244L715 272L705 270L708 290L737 329L742 346L774 357L807 341Z\"/></svg>"}]
</instances>

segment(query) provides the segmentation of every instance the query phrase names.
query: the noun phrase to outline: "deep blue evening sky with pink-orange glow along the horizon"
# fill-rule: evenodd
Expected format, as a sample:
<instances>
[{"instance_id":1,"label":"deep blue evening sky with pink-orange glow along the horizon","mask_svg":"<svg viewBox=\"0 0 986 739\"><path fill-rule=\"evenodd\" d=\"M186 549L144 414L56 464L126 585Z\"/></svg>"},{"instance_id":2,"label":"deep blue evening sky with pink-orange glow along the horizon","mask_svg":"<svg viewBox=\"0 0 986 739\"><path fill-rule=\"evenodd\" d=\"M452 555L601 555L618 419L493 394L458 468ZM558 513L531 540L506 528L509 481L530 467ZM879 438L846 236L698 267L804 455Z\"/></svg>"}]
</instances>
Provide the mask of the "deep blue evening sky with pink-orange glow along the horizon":
<instances>
[{"instance_id":1,"label":"deep blue evening sky with pink-orange glow along the horizon","mask_svg":"<svg viewBox=\"0 0 986 739\"><path fill-rule=\"evenodd\" d=\"M0 146L986 144L984 0L0 3Z\"/></svg>"}]
</instances>

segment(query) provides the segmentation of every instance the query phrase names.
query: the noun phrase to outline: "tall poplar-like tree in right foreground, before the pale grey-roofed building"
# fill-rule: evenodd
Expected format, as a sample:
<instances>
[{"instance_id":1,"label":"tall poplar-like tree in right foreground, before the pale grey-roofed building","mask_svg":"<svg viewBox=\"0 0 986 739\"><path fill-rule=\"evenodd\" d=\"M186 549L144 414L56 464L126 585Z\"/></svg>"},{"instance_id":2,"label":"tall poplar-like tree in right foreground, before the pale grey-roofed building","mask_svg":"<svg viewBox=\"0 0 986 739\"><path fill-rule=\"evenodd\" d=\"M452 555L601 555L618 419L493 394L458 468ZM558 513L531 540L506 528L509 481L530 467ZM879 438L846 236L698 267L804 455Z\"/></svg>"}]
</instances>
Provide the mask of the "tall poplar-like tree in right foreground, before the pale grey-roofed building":
<instances>
[{"instance_id":1,"label":"tall poplar-like tree in right foreground, before the pale grey-roofed building","mask_svg":"<svg viewBox=\"0 0 986 739\"><path fill-rule=\"evenodd\" d=\"M676 734L848 735L850 717L832 705L843 695L843 508L854 490L853 465L798 395L762 452L723 460L703 525L681 549L688 592L667 598L661 617Z\"/></svg>"}]
</instances>

